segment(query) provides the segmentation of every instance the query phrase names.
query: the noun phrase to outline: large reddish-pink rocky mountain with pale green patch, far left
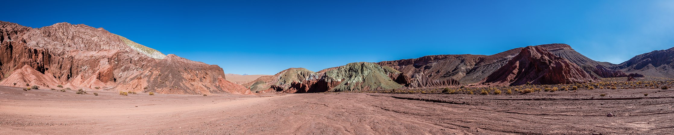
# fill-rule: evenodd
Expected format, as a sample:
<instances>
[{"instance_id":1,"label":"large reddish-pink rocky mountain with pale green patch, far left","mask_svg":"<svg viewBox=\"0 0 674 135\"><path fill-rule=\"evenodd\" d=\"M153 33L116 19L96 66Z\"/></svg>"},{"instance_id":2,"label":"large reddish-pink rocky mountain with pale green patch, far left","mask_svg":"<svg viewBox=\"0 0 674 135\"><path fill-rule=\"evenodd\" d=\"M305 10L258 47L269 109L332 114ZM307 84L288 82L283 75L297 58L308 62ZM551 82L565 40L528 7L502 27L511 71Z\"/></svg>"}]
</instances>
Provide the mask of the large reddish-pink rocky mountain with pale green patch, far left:
<instances>
[{"instance_id":1,"label":"large reddish-pink rocky mountain with pale green patch, far left","mask_svg":"<svg viewBox=\"0 0 674 135\"><path fill-rule=\"evenodd\" d=\"M177 94L250 93L225 81L217 65L164 55L83 24L28 28L0 21L0 56L0 85L5 86L31 83L55 89L63 85ZM29 81L28 76L44 79Z\"/></svg>"}]
</instances>

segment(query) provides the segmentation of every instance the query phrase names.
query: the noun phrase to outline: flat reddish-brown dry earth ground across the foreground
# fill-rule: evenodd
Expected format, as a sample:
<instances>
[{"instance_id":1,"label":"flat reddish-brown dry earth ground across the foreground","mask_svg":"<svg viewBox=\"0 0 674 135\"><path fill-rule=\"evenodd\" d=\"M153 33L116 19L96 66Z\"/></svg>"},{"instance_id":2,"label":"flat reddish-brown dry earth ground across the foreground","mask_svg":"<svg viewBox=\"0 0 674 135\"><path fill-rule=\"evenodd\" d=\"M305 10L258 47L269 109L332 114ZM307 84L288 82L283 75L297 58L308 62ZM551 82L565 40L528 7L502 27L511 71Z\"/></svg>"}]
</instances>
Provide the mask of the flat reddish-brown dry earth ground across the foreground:
<instances>
[{"instance_id":1,"label":"flat reddish-brown dry earth ground across the foreground","mask_svg":"<svg viewBox=\"0 0 674 135\"><path fill-rule=\"evenodd\" d=\"M0 87L0 134L674 134L672 96L657 89L124 96Z\"/></svg>"}]
</instances>

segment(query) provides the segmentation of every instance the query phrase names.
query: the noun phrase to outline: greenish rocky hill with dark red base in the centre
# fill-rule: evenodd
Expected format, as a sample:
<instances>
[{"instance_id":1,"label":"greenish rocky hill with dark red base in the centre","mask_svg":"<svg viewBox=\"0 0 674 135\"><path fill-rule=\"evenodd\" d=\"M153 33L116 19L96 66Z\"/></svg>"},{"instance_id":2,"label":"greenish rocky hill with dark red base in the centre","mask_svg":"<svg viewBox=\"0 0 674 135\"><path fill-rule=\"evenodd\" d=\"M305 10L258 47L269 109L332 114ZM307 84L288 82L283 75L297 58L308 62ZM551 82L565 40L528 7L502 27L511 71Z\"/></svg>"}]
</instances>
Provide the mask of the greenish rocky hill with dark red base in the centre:
<instances>
[{"instance_id":1,"label":"greenish rocky hill with dark red base in the centre","mask_svg":"<svg viewBox=\"0 0 674 135\"><path fill-rule=\"evenodd\" d=\"M398 89L406 77L388 66L371 62L354 62L314 73L303 68L291 68L273 76L244 84L257 93L316 93L331 91L371 91ZM402 83L399 84L398 82Z\"/></svg>"}]
</instances>

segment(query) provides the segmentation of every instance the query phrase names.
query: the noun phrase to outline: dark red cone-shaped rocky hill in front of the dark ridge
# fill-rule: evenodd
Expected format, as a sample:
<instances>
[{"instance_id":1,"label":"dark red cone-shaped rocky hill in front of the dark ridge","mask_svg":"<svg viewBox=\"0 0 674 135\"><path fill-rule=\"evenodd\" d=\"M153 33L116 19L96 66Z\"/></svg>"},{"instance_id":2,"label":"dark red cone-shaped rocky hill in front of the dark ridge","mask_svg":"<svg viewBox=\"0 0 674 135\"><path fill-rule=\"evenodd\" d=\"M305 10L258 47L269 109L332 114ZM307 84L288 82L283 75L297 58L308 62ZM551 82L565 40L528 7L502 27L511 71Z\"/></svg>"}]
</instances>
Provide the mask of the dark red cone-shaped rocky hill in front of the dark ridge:
<instances>
[{"instance_id":1,"label":"dark red cone-shaped rocky hill in front of the dark ridge","mask_svg":"<svg viewBox=\"0 0 674 135\"><path fill-rule=\"evenodd\" d=\"M588 83L597 81L578 65L556 56L541 46L527 46L507 64L489 75L485 83L536 85Z\"/></svg>"}]
</instances>

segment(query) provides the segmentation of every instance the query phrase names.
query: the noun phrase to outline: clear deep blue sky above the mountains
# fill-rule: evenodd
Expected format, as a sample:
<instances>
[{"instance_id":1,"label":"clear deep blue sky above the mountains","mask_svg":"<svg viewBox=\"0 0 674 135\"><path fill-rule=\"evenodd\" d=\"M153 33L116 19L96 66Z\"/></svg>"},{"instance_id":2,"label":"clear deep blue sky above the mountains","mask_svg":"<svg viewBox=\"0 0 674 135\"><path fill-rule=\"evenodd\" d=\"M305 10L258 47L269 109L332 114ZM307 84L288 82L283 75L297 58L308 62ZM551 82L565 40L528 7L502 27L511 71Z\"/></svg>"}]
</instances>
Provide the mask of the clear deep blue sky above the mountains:
<instances>
[{"instance_id":1,"label":"clear deep blue sky above the mountains","mask_svg":"<svg viewBox=\"0 0 674 135\"><path fill-rule=\"evenodd\" d=\"M674 47L674 1L3 1L1 21L104 28L225 73L570 44L619 64Z\"/></svg>"}]
</instances>

